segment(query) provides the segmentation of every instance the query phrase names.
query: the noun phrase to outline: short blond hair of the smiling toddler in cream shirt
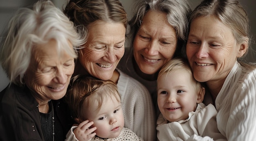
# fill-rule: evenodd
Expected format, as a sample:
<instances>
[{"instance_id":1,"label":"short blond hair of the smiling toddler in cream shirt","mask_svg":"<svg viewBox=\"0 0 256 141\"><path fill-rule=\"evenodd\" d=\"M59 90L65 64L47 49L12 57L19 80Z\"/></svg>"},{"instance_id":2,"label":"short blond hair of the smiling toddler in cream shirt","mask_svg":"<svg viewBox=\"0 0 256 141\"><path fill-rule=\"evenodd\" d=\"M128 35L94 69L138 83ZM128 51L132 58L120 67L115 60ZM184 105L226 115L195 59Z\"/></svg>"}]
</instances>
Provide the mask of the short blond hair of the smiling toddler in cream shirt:
<instances>
[{"instance_id":1,"label":"short blond hair of the smiling toddler in cream shirt","mask_svg":"<svg viewBox=\"0 0 256 141\"><path fill-rule=\"evenodd\" d=\"M185 58L174 58L171 59L171 61L169 61L168 63L166 63L162 69L160 70L158 76L157 76L157 81L158 79L164 75L164 74L168 74L171 73L174 70L180 70L180 69L184 69L186 70L190 77L191 77L191 83L195 84L195 89L197 91L200 91L200 89L203 87L202 83L198 82L197 80L195 80L191 67L189 66L189 62L187 61L187 59Z\"/></svg>"}]
</instances>

